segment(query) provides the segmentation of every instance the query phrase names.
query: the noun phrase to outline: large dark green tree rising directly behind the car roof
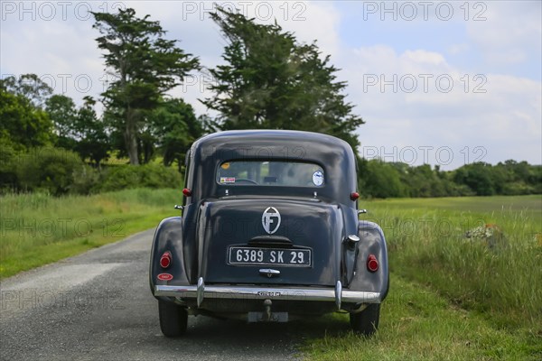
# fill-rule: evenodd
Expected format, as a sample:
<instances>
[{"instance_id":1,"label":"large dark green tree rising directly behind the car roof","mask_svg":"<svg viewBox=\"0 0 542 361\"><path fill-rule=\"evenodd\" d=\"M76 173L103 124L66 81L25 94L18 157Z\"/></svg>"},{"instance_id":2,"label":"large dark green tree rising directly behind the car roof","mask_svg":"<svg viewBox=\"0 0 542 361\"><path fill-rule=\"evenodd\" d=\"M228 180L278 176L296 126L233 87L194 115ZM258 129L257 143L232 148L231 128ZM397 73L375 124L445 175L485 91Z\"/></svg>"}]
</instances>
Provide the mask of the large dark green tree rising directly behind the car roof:
<instances>
[{"instance_id":1,"label":"large dark green tree rising directly behind the car roof","mask_svg":"<svg viewBox=\"0 0 542 361\"><path fill-rule=\"evenodd\" d=\"M277 24L258 24L219 8L210 14L228 42L225 65L210 69L213 97L202 100L220 112L222 129L297 129L332 134L359 145L363 124L352 114L330 57L316 43L299 44Z\"/></svg>"}]
</instances>

